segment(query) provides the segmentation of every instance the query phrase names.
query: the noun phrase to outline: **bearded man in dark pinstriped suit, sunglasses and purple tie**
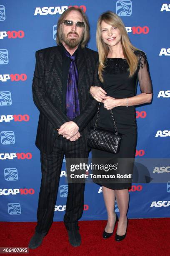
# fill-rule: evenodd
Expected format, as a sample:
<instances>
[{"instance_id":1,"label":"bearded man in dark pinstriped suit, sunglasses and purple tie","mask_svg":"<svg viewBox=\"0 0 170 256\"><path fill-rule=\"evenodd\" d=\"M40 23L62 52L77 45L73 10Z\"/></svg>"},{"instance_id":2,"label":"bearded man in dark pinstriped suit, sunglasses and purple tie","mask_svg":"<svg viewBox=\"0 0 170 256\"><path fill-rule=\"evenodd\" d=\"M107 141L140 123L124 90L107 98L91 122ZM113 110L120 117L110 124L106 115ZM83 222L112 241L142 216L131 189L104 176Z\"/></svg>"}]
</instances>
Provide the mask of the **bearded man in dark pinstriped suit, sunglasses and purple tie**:
<instances>
[{"instance_id":1,"label":"bearded man in dark pinstriped suit, sunglasses and purple tie","mask_svg":"<svg viewBox=\"0 0 170 256\"><path fill-rule=\"evenodd\" d=\"M40 149L42 180L37 226L29 248L37 248L52 225L65 154L67 159L88 157L87 133L96 112L90 98L98 54L85 48L89 24L81 9L71 7L57 24L58 46L36 52L33 100L40 111L36 146ZM84 183L69 183L64 216L69 242L80 246L78 219L84 209Z\"/></svg>"}]
</instances>

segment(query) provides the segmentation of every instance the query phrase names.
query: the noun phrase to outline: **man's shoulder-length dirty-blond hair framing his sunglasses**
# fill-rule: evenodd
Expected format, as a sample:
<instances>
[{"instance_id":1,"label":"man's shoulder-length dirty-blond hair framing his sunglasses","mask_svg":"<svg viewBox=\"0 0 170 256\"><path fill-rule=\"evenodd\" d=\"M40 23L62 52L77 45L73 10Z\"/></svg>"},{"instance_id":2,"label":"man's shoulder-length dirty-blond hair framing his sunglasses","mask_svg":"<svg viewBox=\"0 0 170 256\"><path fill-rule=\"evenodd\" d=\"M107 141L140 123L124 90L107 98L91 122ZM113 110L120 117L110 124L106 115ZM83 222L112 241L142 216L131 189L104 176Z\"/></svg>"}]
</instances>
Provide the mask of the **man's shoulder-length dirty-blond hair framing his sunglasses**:
<instances>
[{"instance_id":1,"label":"man's shoulder-length dirty-blond hair framing his sunglasses","mask_svg":"<svg viewBox=\"0 0 170 256\"><path fill-rule=\"evenodd\" d=\"M72 10L78 11L81 15L82 15L82 19L85 23L85 28L84 28L84 33L82 36L82 41L80 42L80 46L81 48L85 48L87 42L89 41L90 38L90 26L89 26L89 22L88 19L85 15L85 13L83 12L82 9L80 8L75 8L75 7L70 7L67 10L65 10L62 15L60 16L60 18L58 19L57 22L57 37L56 37L56 41L57 44L60 45L62 44L62 23L64 22L67 14L69 14Z\"/></svg>"}]
</instances>

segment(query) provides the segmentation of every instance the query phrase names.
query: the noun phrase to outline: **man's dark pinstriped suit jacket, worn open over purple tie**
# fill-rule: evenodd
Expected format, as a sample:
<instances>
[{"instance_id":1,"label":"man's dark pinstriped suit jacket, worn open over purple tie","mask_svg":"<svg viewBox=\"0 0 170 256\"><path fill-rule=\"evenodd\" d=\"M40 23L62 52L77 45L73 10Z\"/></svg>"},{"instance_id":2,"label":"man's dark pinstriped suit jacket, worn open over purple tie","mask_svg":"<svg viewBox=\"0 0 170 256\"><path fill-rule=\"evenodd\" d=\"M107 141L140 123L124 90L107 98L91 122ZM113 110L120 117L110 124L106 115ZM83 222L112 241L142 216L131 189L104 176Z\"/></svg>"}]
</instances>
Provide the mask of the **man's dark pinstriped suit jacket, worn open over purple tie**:
<instances>
[{"instance_id":1,"label":"man's dark pinstriped suit jacket, worn open over purple tie","mask_svg":"<svg viewBox=\"0 0 170 256\"><path fill-rule=\"evenodd\" d=\"M58 137L55 128L70 121L62 112L62 49L61 46L36 51L35 72L32 83L33 100L40 111L35 145L50 154ZM98 53L88 48L77 52L78 97L80 115L73 121L79 126L81 141L87 149L87 133L97 110L97 101L90 97Z\"/></svg>"}]
</instances>

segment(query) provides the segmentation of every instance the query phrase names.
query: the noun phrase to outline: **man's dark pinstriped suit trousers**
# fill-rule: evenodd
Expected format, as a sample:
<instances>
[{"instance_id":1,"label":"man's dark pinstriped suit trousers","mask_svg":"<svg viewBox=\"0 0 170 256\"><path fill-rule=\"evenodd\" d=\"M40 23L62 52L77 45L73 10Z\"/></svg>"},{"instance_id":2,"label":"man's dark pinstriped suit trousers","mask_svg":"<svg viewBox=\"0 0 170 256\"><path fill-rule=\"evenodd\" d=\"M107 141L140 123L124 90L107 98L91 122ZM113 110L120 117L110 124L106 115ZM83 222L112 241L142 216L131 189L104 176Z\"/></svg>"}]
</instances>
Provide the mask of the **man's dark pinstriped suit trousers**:
<instances>
[{"instance_id":1,"label":"man's dark pinstriped suit trousers","mask_svg":"<svg viewBox=\"0 0 170 256\"><path fill-rule=\"evenodd\" d=\"M76 158L76 161L78 158L87 159L88 149L82 146L80 138L77 141L69 141L59 136L50 154L40 152L42 179L35 227L37 233L47 234L52 225L64 154L67 164L67 159ZM84 189L85 183L68 183L64 216L67 230L79 229L78 220L82 217L84 209Z\"/></svg>"}]
</instances>

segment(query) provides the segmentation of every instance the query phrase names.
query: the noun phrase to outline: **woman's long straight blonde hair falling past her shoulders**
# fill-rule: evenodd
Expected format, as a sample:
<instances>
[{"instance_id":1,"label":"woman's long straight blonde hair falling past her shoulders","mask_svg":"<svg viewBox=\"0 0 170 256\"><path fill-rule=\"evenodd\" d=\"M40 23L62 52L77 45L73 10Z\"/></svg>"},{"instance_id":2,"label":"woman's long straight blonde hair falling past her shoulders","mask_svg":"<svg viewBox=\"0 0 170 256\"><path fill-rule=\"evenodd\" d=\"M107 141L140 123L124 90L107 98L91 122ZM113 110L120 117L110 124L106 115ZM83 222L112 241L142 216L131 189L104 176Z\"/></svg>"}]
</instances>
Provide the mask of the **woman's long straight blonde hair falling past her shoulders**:
<instances>
[{"instance_id":1,"label":"woman's long straight blonde hair falling past her shoulders","mask_svg":"<svg viewBox=\"0 0 170 256\"><path fill-rule=\"evenodd\" d=\"M100 15L97 21L97 31L96 31L96 42L97 42L97 49L99 52L99 67L98 67L98 74L99 79L103 82L102 71L105 68L104 62L107 58L107 54L109 52L109 47L102 41L101 37L101 23L105 21L107 24L117 27L121 33L121 44L123 49L123 55L128 62L130 77L133 76L136 69L138 68L138 58L134 54L135 50L138 50L135 46L130 43L130 39L128 37L125 25L123 24L122 20L119 18L118 15L111 11L107 11Z\"/></svg>"}]
</instances>

